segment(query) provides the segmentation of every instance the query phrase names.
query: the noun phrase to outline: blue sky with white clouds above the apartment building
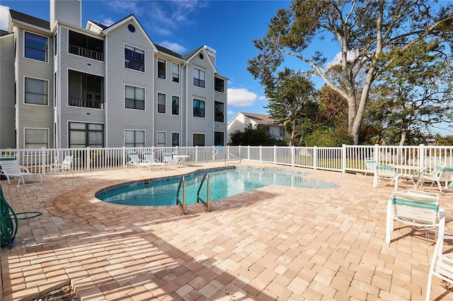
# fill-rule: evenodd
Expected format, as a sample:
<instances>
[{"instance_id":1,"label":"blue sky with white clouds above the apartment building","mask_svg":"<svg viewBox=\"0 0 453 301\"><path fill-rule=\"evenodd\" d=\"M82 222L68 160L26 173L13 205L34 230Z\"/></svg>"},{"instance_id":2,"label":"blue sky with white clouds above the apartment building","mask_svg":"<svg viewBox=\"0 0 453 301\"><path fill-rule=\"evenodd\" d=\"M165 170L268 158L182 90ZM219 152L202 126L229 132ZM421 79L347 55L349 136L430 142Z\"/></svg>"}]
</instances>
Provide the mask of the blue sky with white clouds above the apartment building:
<instances>
[{"instance_id":1,"label":"blue sky with white clouds above the apartment building","mask_svg":"<svg viewBox=\"0 0 453 301\"><path fill-rule=\"evenodd\" d=\"M238 112L268 114L263 87L247 71L249 59L258 54L253 39L263 37L268 23L289 1L196 1L196 0L83 0L82 26L87 20L104 25L131 13L154 43L185 54L202 45L217 50L217 69L228 83L228 120ZM37 18L50 20L50 1L1 0L1 29L8 29L7 7ZM338 53L336 47L330 59Z\"/></svg>"}]
</instances>

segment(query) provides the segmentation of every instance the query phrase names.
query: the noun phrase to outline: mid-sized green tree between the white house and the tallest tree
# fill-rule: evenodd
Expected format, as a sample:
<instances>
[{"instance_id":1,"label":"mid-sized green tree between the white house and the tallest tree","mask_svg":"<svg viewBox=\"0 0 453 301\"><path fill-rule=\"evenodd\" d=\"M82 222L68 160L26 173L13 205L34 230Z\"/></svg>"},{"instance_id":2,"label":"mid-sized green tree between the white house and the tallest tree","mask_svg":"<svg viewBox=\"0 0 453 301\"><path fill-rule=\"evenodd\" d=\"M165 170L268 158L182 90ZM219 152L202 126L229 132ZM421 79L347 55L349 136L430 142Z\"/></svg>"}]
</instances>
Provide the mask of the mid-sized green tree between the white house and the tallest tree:
<instances>
[{"instance_id":1,"label":"mid-sized green tree between the white house and the tallest tree","mask_svg":"<svg viewBox=\"0 0 453 301\"><path fill-rule=\"evenodd\" d=\"M279 72L266 88L270 116L279 124L287 124L291 133L289 146L294 145L298 120L314 118L314 92L314 83L289 69Z\"/></svg>"}]
</instances>

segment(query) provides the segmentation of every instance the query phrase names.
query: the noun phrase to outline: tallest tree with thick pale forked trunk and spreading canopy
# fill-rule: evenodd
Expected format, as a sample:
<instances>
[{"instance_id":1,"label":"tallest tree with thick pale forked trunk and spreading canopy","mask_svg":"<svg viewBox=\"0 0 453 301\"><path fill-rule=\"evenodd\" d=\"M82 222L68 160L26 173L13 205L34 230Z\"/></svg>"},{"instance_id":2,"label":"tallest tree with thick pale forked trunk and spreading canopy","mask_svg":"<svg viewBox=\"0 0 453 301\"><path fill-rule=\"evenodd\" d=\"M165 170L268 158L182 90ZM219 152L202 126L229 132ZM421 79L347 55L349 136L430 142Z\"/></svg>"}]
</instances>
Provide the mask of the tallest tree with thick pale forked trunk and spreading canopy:
<instances>
[{"instance_id":1,"label":"tallest tree with thick pale forked trunk and spreading canopy","mask_svg":"<svg viewBox=\"0 0 453 301\"><path fill-rule=\"evenodd\" d=\"M253 41L259 54L248 61L248 71L268 85L287 57L308 64L309 73L348 101L348 133L357 144L372 83L394 60L386 54L410 52L418 42L434 38L451 48L452 11L452 4L435 6L430 0L293 0L270 20L265 37ZM306 54L314 40L326 36L340 48L341 85L326 76L321 51L311 58Z\"/></svg>"}]
</instances>

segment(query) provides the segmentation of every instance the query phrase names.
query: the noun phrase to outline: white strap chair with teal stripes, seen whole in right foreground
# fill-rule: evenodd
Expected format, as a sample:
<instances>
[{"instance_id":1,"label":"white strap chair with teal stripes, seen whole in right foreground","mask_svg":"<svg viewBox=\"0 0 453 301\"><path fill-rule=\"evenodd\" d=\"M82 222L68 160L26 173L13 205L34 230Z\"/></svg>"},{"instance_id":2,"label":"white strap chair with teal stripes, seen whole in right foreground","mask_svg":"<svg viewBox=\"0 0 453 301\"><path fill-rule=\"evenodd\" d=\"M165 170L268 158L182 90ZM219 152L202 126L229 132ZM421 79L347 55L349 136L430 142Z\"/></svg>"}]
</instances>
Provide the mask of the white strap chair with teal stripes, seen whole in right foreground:
<instances>
[{"instance_id":1,"label":"white strap chair with teal stripes, seen whole in right foreground","mask_svg":"<svg viewBox=\"0 0 453 301\"><path fill-rule=\"evenodd\" d=\"M390 243L394 220L412 225L415 230L439 228L439 237L445 232L445 209L439 206L439 196L425 191L394 191L387 203L385 241Z\"/></svg>"}]
</instances>

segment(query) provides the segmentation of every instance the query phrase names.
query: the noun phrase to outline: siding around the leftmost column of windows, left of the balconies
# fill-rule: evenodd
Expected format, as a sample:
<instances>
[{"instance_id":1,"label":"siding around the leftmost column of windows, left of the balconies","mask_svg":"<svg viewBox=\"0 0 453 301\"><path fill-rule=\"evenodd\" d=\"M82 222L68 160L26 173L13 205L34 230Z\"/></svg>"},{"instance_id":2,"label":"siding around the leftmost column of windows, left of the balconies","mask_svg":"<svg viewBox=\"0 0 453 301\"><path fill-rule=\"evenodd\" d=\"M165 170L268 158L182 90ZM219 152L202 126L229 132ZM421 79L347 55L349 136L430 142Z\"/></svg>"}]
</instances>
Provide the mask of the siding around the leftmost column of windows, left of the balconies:
<instances>
[{"instance_id":1,"label":"siding around the leftmost column of windows, left of the balconies","mask_svg":"<svg viewBox=\"0 0 453 301\"><path fill-rule=\"evenodd\" d=\"M52 37L48 38L48 44L53 44ZM24 57L24 30L18 30L17 35L18 57L16 67L17 78L17 107L16 124L18 137L18 148L25 147L24 129L48 129L49 141L48 145L53 146L53 49L48 47L47 61L38 61ZM25 103L25 77L37 78L47 81L47 105L30 105Z\"/></svg>"}]
</instances>

